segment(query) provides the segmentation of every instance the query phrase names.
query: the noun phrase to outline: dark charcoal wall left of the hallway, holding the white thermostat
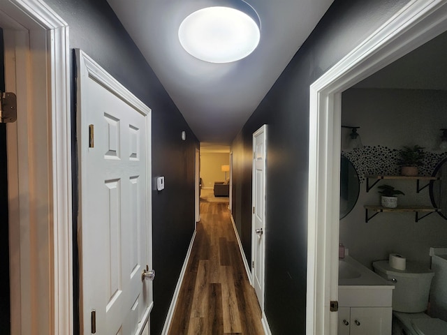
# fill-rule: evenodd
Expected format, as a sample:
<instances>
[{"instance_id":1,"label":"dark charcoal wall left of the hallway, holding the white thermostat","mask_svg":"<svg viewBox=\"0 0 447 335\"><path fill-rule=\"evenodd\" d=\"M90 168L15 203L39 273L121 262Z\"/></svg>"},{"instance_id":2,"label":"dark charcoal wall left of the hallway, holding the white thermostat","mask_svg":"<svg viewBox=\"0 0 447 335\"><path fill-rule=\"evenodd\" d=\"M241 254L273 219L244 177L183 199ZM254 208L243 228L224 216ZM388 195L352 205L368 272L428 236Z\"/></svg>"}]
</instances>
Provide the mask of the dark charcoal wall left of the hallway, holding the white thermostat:
<instances>
[{"instance_id":1,"label":"dark charcoal wall left of the hallway, holding the white thermostat","mask_svg":"<svg viewBox=\"0 0 447 335\"><path fill-rule=\"evenodd\" d=\"M46 2L68 23L70 47L85 51L152 109L152 177L165 176L166 183L165 190L152 191L156 279L151 334L160 334L194 230L198 140L105 0ZM74 84L72 91L74 98ZM76 214L77 195L73 198Z\"/></svg>"}]
</instances>

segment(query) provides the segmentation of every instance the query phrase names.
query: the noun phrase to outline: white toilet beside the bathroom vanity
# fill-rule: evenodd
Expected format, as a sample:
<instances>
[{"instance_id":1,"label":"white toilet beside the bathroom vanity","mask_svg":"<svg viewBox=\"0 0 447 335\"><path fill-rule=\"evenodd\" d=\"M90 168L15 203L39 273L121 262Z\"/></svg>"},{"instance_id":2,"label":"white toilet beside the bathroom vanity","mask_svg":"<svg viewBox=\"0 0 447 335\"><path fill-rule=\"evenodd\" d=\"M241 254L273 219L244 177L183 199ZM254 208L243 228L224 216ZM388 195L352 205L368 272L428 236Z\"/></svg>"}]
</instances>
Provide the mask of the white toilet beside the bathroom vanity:
<instances>
[{"instance_id":1,"label":"white toilet beside the bathroom vanity","mask_svg":"<svg viewBox=\"0 0 447 335\"><path fill-rule=\"evenodd\" d=\"M427 309L434 271L417 263L406 262L401 271L390 267L388 260L372 263L377 274L393 281L393 335L445 335L447 322L430 318ZM447 278L444 278L447 281Z\"/></svg>"}]
</instances>

